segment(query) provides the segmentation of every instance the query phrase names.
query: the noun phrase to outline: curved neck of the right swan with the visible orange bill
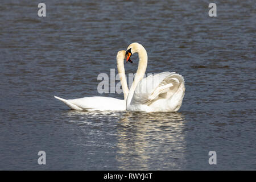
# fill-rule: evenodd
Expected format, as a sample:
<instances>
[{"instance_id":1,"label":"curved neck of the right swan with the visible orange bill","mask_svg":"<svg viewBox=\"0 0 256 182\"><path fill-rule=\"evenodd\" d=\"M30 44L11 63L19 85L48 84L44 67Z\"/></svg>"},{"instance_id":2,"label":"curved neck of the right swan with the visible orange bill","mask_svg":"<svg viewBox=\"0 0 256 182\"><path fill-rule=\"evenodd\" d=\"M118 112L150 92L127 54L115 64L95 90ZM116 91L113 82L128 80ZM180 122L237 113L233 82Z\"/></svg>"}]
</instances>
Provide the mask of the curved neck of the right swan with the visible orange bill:
<instances>
[{"instance_id":1,"label":"curved neck of the right swan with the visible orange bill","mask_svg":"<svg viewBox=\"0 0 256 182\"><path fill-rule=\"evenodd\" d=\"M133 98L133 94L134 91L136 89L136 86L138 85L139 81L142 80L142 78L145 75L146 69L147 69L147 51L146 49L144 49L144 47L141 44L136 44L135 48L135 52L138 52L139 54L139 65L138 65L138 69L136 72L136 75L134 77L134 81L133 84L131 85L128 97L127 97L127 101L126 101L126 108L127 106L129 106L131 104L131 99Z\"/></svg>"}]
</instances>

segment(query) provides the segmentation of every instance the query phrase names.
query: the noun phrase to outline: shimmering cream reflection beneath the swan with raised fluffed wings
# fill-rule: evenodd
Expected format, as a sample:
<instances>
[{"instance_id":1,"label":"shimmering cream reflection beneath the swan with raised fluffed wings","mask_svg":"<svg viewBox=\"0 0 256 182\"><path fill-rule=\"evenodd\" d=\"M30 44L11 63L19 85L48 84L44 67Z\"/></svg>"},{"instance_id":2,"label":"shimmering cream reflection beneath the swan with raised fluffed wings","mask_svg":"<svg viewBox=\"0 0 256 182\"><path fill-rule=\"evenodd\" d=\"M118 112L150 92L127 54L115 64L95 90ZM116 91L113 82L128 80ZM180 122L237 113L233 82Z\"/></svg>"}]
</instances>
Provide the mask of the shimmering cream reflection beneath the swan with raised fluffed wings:
<instances>
[{"instance_id":1,"label":"shimmering cream reflection beneath the swan with raised fluffed wings","mask_svg":"<svg viewBox=\"0 0 256 182\"><path fill-rule=\"evenodd\" d=\"M125 113L118 122L119 169L178 169L185 163L180 113Z\"/></svg>"}]
</instances>

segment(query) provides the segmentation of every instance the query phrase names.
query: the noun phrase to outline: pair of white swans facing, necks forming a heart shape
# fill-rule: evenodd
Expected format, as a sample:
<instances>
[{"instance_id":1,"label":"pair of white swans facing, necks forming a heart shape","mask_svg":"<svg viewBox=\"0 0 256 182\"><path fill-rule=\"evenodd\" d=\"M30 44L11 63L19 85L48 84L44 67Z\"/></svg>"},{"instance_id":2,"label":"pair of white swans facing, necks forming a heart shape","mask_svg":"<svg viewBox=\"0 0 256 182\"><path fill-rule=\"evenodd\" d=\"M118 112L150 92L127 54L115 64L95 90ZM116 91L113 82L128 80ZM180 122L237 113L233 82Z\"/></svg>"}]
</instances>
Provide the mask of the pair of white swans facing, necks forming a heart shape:
<instances>
[{"instance_id":1,"label":"pair of white swans facing, necks forming a heart shape","mask_svg":"<svg viewBox=\"0 0 256 182\"><path fill-rule=\"evenodd\" d=\"M123 60L130 60L131 55L138 53L139 65L130 90L127 86ZM146 112L175 112L180 109L185 93L184 78L174 72L144 74L147 68L147 51L139 43L132 43L127 51L117 53L117 69L123 89L123 100L110 97L84 97L63 101L74 110L128 110Z\"/></svg>"}]
</instances>

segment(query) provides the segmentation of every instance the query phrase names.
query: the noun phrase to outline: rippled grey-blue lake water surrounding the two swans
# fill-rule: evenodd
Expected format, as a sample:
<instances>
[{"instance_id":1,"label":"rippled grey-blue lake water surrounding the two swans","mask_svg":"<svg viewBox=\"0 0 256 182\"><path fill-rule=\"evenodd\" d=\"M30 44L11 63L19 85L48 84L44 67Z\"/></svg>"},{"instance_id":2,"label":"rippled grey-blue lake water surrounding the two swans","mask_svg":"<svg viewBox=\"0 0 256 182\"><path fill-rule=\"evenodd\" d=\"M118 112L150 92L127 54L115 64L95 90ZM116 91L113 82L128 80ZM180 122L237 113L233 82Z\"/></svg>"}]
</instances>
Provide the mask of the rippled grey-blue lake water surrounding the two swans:
<instances>
[{"instance_id":1,"label":"rippled grey-blue lake water surrounding the two swans","mask_svg":"<svg viewBox=\"0 0 256 182\"><path fill-rule=\"evenodd\" d=\"M1 1L0 169L255 170L256 1L214 2L217 17L210 1L44 1L39 17L39 2ZM72 111L53 98L122 99L98 93L97 76L117 74L133 42L147 73L184 76L177 113Z\"/></svg>"}]
</instances>

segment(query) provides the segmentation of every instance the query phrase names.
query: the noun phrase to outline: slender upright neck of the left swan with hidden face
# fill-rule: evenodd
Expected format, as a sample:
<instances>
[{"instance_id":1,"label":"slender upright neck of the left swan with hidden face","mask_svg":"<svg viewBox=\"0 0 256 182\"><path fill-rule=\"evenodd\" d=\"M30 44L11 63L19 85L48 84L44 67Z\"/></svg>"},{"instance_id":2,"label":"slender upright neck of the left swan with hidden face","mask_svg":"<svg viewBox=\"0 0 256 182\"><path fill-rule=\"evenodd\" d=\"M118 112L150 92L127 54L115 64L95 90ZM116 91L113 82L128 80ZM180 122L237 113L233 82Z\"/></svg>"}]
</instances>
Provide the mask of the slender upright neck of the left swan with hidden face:
<instances>
[{"instance_id":1,"label":"slender upright neck of the left swan with hidden face","mask_svg":"<svg viewBox=\"0 0 256 182\"><path fill-rule=\"evenodd\" d=\"M126 76L125 76L125 65L123 64L123 60L125 59L125 51L121 53L121 55L117 55L117 70L118 70L118 75L120 78L120 82L122 85L123 89L123 99L126 100L129 89L126 81Z\"/></svg>"}]
</instances>

